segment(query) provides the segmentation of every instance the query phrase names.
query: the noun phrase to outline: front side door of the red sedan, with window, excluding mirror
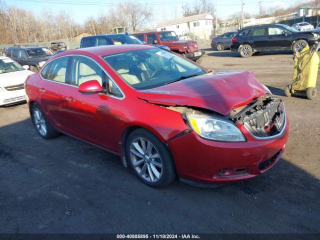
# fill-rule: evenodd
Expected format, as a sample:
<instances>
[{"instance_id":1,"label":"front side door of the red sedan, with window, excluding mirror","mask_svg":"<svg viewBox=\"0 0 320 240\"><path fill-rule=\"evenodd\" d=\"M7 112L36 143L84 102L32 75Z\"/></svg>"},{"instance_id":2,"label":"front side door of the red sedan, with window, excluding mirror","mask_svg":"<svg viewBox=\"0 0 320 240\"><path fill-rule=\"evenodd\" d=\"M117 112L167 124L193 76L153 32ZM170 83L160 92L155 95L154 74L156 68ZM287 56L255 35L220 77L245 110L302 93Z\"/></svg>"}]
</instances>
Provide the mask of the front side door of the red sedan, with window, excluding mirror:
<instances>
[{"instance_id":1,"label":"front side door of the red sedan, with window, excluding mirror","mask_svg":"<svg viewBox=\"0 0 320 240\"><path fill-rule=\"evenodd\" d=\"M78 85L88 80L97 80L105 86L108 76L92 59L73 56L71 85L64 95L69 133L90 143L116 151L113 138L116 116L110 106L121 101L121 95L112 97L104 93L81 93ZM121 94L121 93L120 93Z\"/></svg>"}]
</instances>

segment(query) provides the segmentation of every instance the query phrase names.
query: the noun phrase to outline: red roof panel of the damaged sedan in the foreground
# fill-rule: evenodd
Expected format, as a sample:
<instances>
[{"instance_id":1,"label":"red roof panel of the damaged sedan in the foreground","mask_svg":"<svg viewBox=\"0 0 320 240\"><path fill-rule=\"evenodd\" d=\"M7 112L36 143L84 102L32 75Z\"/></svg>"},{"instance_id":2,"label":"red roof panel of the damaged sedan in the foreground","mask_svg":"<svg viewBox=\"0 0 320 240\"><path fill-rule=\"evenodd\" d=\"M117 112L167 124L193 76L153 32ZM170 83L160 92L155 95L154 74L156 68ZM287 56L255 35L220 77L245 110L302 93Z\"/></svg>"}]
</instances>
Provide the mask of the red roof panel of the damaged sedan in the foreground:
<instances>
[{"instance_id":1,"label":"red roof panel of the damaged sedan in the foreground","mask_svg":"<svg viewBox=\"0 0 320 240\"><path fill-rule=\"evenodd\" d=\"M151 49L157 48L156 46L145 45L145 44L124 44L124 45L100 45L100 46L92 46L85 48L77 48L71 49L67 51L60 52L54 56L62 56L62 55L72 55L72 54L85 54L85 55L109 55L114 53L121 53L125 51L133 51L133 50L142 50L142 49Z\"/></svg>"}]
</instances>

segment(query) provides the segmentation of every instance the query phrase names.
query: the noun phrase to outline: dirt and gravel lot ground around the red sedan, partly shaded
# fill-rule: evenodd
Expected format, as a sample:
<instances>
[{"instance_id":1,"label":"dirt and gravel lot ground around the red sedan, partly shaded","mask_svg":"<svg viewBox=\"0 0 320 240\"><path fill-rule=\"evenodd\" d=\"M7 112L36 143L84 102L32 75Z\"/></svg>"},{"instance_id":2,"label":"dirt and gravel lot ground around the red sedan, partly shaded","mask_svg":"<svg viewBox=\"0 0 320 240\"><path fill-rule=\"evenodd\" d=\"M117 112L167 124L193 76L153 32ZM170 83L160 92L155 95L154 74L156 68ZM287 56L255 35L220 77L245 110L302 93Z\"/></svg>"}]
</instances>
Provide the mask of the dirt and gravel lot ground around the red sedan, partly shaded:
<instances>
[{"instance_id":1,"label":"dirt and gravel lot ground around the red sedan, partly shaded","mask_svg":"<svg viewBox=\"0 0 320 240\"><path fill-rule=\"evenodd\" d=\"M285 101L290 136L274 167L219 188L153 189L118 156L65 135L42 139L27 104L0 107L0 232L320 233L320 90L314 101L283 95L290 52L203 48L202 65L252 70Z\"/></svg>"}]
</instances>

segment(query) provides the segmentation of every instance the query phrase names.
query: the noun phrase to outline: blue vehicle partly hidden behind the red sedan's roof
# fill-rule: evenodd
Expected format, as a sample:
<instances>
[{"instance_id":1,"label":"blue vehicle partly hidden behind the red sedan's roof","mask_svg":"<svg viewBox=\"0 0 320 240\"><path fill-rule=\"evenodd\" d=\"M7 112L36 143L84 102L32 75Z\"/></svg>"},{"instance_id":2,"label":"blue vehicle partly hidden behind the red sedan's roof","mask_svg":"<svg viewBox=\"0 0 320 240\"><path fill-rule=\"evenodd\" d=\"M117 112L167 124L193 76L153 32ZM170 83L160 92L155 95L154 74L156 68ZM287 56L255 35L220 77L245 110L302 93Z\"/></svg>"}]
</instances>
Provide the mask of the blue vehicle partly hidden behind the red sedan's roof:
<instances>
[{"instance_id":1,"label":"blue vehicle partly hidden behind the red sedan's roof","mask_svg":"<svg viewBox=\"0 0 320 240\"><path fill-rule=\"evenodd\" d=\"M80 48L100 45L145 44L135 36L125 33L114 33L94 36L84 36L80 41ZM167 46L157 45L164 50L170 50Z\"/></svg>"}]
</instances>

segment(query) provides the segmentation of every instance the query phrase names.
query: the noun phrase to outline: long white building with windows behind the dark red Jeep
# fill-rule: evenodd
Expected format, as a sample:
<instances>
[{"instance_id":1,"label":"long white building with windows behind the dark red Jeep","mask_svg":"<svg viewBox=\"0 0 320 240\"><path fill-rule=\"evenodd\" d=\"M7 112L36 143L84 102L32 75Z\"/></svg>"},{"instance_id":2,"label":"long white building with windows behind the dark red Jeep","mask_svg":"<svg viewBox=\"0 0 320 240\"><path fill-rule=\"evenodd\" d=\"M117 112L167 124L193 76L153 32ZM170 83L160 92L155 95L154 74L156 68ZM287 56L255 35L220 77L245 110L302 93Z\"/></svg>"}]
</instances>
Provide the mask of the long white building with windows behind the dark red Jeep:
<instances>
[{"instance_id":1,"label":"long white building with windows behind the dark red Jeep","mask_svg":"<svg viewBox=\"0 0 320 240\"><path fill-rule=\"evenodd\" d=\"M156 26L157 31L175 31L177 35L193 33L199 38L209 39L213 16L210 13L201 13L162 21Z\"/></svg>"}]
</instances>

